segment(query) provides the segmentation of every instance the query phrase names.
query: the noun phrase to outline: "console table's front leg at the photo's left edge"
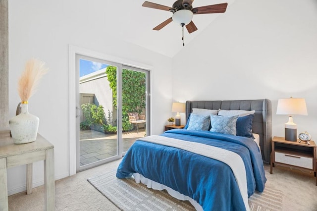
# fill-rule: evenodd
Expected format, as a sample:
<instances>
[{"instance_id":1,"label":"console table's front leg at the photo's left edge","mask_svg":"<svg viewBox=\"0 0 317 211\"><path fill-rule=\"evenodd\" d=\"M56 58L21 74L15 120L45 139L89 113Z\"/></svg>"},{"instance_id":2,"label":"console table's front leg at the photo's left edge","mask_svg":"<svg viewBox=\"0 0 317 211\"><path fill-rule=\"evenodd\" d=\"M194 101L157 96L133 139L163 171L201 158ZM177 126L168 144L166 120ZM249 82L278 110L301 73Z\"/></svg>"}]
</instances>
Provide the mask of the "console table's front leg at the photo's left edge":
<instances>
[{"instance_id":1,"label":"console table's front leg at the photo's left edge","mask_svg":"<svg viewBox=\"0 0 317 211\"><path fill-rule=\"evenodd\" d=\"M0 158L0 210L8 211L8 187L6 180L6 158Z\"/></svg>"}]
</instances>

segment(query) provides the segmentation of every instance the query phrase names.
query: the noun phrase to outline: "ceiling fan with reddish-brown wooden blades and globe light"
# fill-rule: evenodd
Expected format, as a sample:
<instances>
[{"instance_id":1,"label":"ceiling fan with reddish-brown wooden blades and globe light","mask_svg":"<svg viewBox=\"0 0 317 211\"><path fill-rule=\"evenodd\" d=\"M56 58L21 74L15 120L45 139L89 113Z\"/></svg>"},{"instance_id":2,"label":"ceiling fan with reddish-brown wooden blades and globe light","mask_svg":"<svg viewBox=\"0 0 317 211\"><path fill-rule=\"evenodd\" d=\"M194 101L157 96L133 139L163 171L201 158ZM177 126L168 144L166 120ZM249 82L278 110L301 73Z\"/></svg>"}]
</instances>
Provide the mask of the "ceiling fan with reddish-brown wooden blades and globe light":
<instances>
[{"instance_id":1,"label":"ceiling fan with reddish-brown wooden blades and globe light","mask_svg":"<svg viewBox=\"0 0 317 211\"><path fill-rule=\"evenodd\" d=\"M170 11L173 13L172 17L154 27L153 30L160 30L172 21L176 21L182 27L186 26L188 33L197 30L196 25L192 21L193 15L196 14L209 14L209 13L223 13L226 11L228 3L219 3L207 6L200 6L193 8L192 3L194 0L176 0L172 7L164 6L161 4L145 1L142 6Z\"/></svg>"}]
</instances>

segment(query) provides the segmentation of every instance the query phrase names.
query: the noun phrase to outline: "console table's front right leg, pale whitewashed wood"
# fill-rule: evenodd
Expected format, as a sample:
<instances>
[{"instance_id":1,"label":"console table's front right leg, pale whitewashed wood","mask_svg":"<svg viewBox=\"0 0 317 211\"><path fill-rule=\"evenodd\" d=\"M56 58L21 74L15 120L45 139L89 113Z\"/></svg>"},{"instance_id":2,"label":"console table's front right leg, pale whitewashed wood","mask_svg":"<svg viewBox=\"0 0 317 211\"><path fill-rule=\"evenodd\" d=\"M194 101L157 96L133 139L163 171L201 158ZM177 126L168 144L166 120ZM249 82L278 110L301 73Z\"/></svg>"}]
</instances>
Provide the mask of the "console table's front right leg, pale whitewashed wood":
<instances>
[{"instance_id":1,"label":"console table's front right leg, pale whitewashed wood","mask_svg":"<svg viewBox=\"0 0 317 211\"><path fill-rule=\"evenodd\" d=\"M45 210L55 210L54 149L46 150L44 160Z\"/></svg>"}]
</instances>

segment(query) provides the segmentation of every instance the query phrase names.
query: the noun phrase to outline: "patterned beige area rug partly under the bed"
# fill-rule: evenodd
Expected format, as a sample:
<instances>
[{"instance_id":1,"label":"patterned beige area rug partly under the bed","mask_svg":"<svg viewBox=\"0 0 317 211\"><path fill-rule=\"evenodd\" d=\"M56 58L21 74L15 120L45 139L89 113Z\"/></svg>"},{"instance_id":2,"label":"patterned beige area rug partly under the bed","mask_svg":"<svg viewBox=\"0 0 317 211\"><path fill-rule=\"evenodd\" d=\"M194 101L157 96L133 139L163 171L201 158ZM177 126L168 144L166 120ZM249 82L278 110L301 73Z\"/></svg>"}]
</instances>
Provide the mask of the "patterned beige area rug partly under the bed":
<instances>
[{"instance_id":1,"label":"patterned beige area rug partly under the bed","mask_svg":"<svg viewBox=\"0 0 317 211\"><path fill-rule=\"evenodd\" d=\"M188 201L171 197L165 190L158 191L137 184L133 178L117 179L116 170L89 178L88 181L122 211L195 211ZM282 210L282 192L265 187L249 199L251 211Z\"/></svg>"}]
</instances>

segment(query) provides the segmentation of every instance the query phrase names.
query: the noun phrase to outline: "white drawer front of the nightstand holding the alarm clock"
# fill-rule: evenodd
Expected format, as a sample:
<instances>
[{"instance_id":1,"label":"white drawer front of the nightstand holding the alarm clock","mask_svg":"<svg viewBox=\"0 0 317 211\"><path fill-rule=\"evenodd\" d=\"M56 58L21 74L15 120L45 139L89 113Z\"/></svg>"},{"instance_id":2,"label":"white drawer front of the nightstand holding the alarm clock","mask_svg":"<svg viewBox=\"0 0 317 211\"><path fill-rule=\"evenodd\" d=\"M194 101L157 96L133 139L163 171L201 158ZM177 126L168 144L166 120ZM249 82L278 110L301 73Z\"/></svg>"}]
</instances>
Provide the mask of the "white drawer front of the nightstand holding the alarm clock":
<instances>
[{"instance_id":1,"label":"white drawer front of the nightstand holding the alarm clock","mask_svg":"<svg viewBox=\"0 0 317 211\"><path fill-rule=\"evenodd\" d=\"M307 158L303 156L275 152L275 162L281 162L303 168L314 169L313 161L314 158Z\"/></svg>"}]
</instances>

